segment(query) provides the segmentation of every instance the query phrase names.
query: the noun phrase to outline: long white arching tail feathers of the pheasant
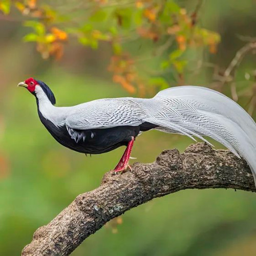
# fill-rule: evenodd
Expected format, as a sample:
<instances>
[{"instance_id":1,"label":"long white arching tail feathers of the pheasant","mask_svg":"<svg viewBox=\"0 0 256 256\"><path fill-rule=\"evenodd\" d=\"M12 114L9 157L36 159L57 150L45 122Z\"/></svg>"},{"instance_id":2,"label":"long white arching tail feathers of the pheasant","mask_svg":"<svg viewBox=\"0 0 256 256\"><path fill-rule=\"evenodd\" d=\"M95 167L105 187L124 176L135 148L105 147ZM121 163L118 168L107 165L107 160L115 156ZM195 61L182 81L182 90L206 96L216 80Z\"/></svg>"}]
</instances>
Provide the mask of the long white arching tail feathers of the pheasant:
<instances>
[{"instance_id":1,"label":"long white arching tail feathers of the pheasant","mask_svg":"<svg viewBox=\"0 0 256 256\"><path fill-rule=\"evenodd\" d=\"M158 130L219 141L247 161L256 181L256 123L239 104L208 88L182 86L159 92L145 107L151 113L145 121Z\"/></svg>"}]
</instances>

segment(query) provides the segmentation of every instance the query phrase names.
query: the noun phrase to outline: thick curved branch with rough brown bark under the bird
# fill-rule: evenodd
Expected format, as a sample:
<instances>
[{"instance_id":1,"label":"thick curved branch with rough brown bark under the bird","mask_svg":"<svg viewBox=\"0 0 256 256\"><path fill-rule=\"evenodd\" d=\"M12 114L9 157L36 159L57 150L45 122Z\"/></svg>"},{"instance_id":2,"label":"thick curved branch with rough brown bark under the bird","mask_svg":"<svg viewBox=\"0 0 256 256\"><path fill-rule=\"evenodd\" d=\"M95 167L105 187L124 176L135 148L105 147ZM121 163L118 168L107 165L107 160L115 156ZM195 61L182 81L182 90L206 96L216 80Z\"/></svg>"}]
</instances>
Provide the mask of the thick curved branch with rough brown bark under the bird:
<instances>
[{"instance_id":1,"label":"thick curved branch with rough brown bark under the bird","mask_svg":"<svg viewBox=\"0 0 256 256\"><path fill-rule=\"evenodd\" d=\"M135 163L132 171L118 175L106 173L98 188L77 196L48 225L38 228L22 255L69 255L126 210L187 188L255 192L248 165L228 151L215 151L204 143L189 146L183 154L165 150L154 163Z\"/></svg>"}]
</instances>

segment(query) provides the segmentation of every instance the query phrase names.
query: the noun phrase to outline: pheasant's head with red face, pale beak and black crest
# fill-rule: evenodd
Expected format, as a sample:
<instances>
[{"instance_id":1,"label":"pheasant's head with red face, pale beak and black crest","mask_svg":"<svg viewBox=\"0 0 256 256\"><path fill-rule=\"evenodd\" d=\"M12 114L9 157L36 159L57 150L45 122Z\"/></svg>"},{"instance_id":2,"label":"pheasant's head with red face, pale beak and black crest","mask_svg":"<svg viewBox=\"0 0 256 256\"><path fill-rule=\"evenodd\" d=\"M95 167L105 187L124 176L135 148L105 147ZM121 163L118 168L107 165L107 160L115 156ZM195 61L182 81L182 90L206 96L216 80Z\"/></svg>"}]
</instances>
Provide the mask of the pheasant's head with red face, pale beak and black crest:
<instances>
[{"instance_id":1,"label":"pheasant's head with red face, pale beak and black crest","mask_svg":"<svg viewBox=\"0 0 256 256\"><path fill-rule=\"evenodd\" d=\"M53 92L51 89L42 81L35 80L34 78L28 78L24 82L19 82L18 86L25 87L28 89L30 93L35 95L39 95L40 93L45 93L51 103L54 105L56 103L56 99L54 97ZM37 97L38 98L38 97Z\"/></svg>"}]
</instances>

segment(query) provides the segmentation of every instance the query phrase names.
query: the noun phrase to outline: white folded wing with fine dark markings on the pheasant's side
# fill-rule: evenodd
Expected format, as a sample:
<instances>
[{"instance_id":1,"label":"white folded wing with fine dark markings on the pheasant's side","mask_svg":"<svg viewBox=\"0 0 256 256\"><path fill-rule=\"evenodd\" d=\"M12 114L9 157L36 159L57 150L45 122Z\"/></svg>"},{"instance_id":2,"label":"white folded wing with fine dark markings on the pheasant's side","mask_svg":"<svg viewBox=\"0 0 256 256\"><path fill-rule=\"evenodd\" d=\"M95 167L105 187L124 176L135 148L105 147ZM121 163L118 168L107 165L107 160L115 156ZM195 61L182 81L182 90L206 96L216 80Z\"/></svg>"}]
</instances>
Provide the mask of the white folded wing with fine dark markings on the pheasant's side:
<instances>
[{"instance_id":1,"label":"white folded wing with fine dark markings on the pheasant's side","mask_svg":"<svg viewBox=\"0 0 256 256\"><path fill-rule=\"evenodd\" d=\"M138 126L145 117L145 110L136 98L100 99L77 105L66 118L66 126L77 130Z\"/></svg>"}]
</instances>

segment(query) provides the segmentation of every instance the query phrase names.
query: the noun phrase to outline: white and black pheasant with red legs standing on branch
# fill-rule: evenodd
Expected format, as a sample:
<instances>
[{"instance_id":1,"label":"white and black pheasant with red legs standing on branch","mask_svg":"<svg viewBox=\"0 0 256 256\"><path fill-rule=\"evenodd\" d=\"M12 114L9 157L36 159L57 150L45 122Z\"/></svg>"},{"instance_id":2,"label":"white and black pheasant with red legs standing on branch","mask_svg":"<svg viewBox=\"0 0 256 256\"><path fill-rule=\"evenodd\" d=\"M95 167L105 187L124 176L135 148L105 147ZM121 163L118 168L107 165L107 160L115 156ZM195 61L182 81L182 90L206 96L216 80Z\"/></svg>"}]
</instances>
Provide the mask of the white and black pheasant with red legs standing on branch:
<instances>
[{"instance_id":1,"label":"white and black pheasant with red legs standing on branch","mask_svg":"<svg viewBox=\"0 0 256 256\"><path fill-rule=\"evenodd\" d=\"M36 98L39 118L63 146L84 154L102 154L126 146L114 168L129 165L134 141L150 130L186 135L209 143L205 136L244 158L256 181L256 123L224 94L199 86L178 86L153 98L105 98L74 106L55 106L53 92L45 82L28 78L18 83Z\"/></svg>"}]
</instances>

